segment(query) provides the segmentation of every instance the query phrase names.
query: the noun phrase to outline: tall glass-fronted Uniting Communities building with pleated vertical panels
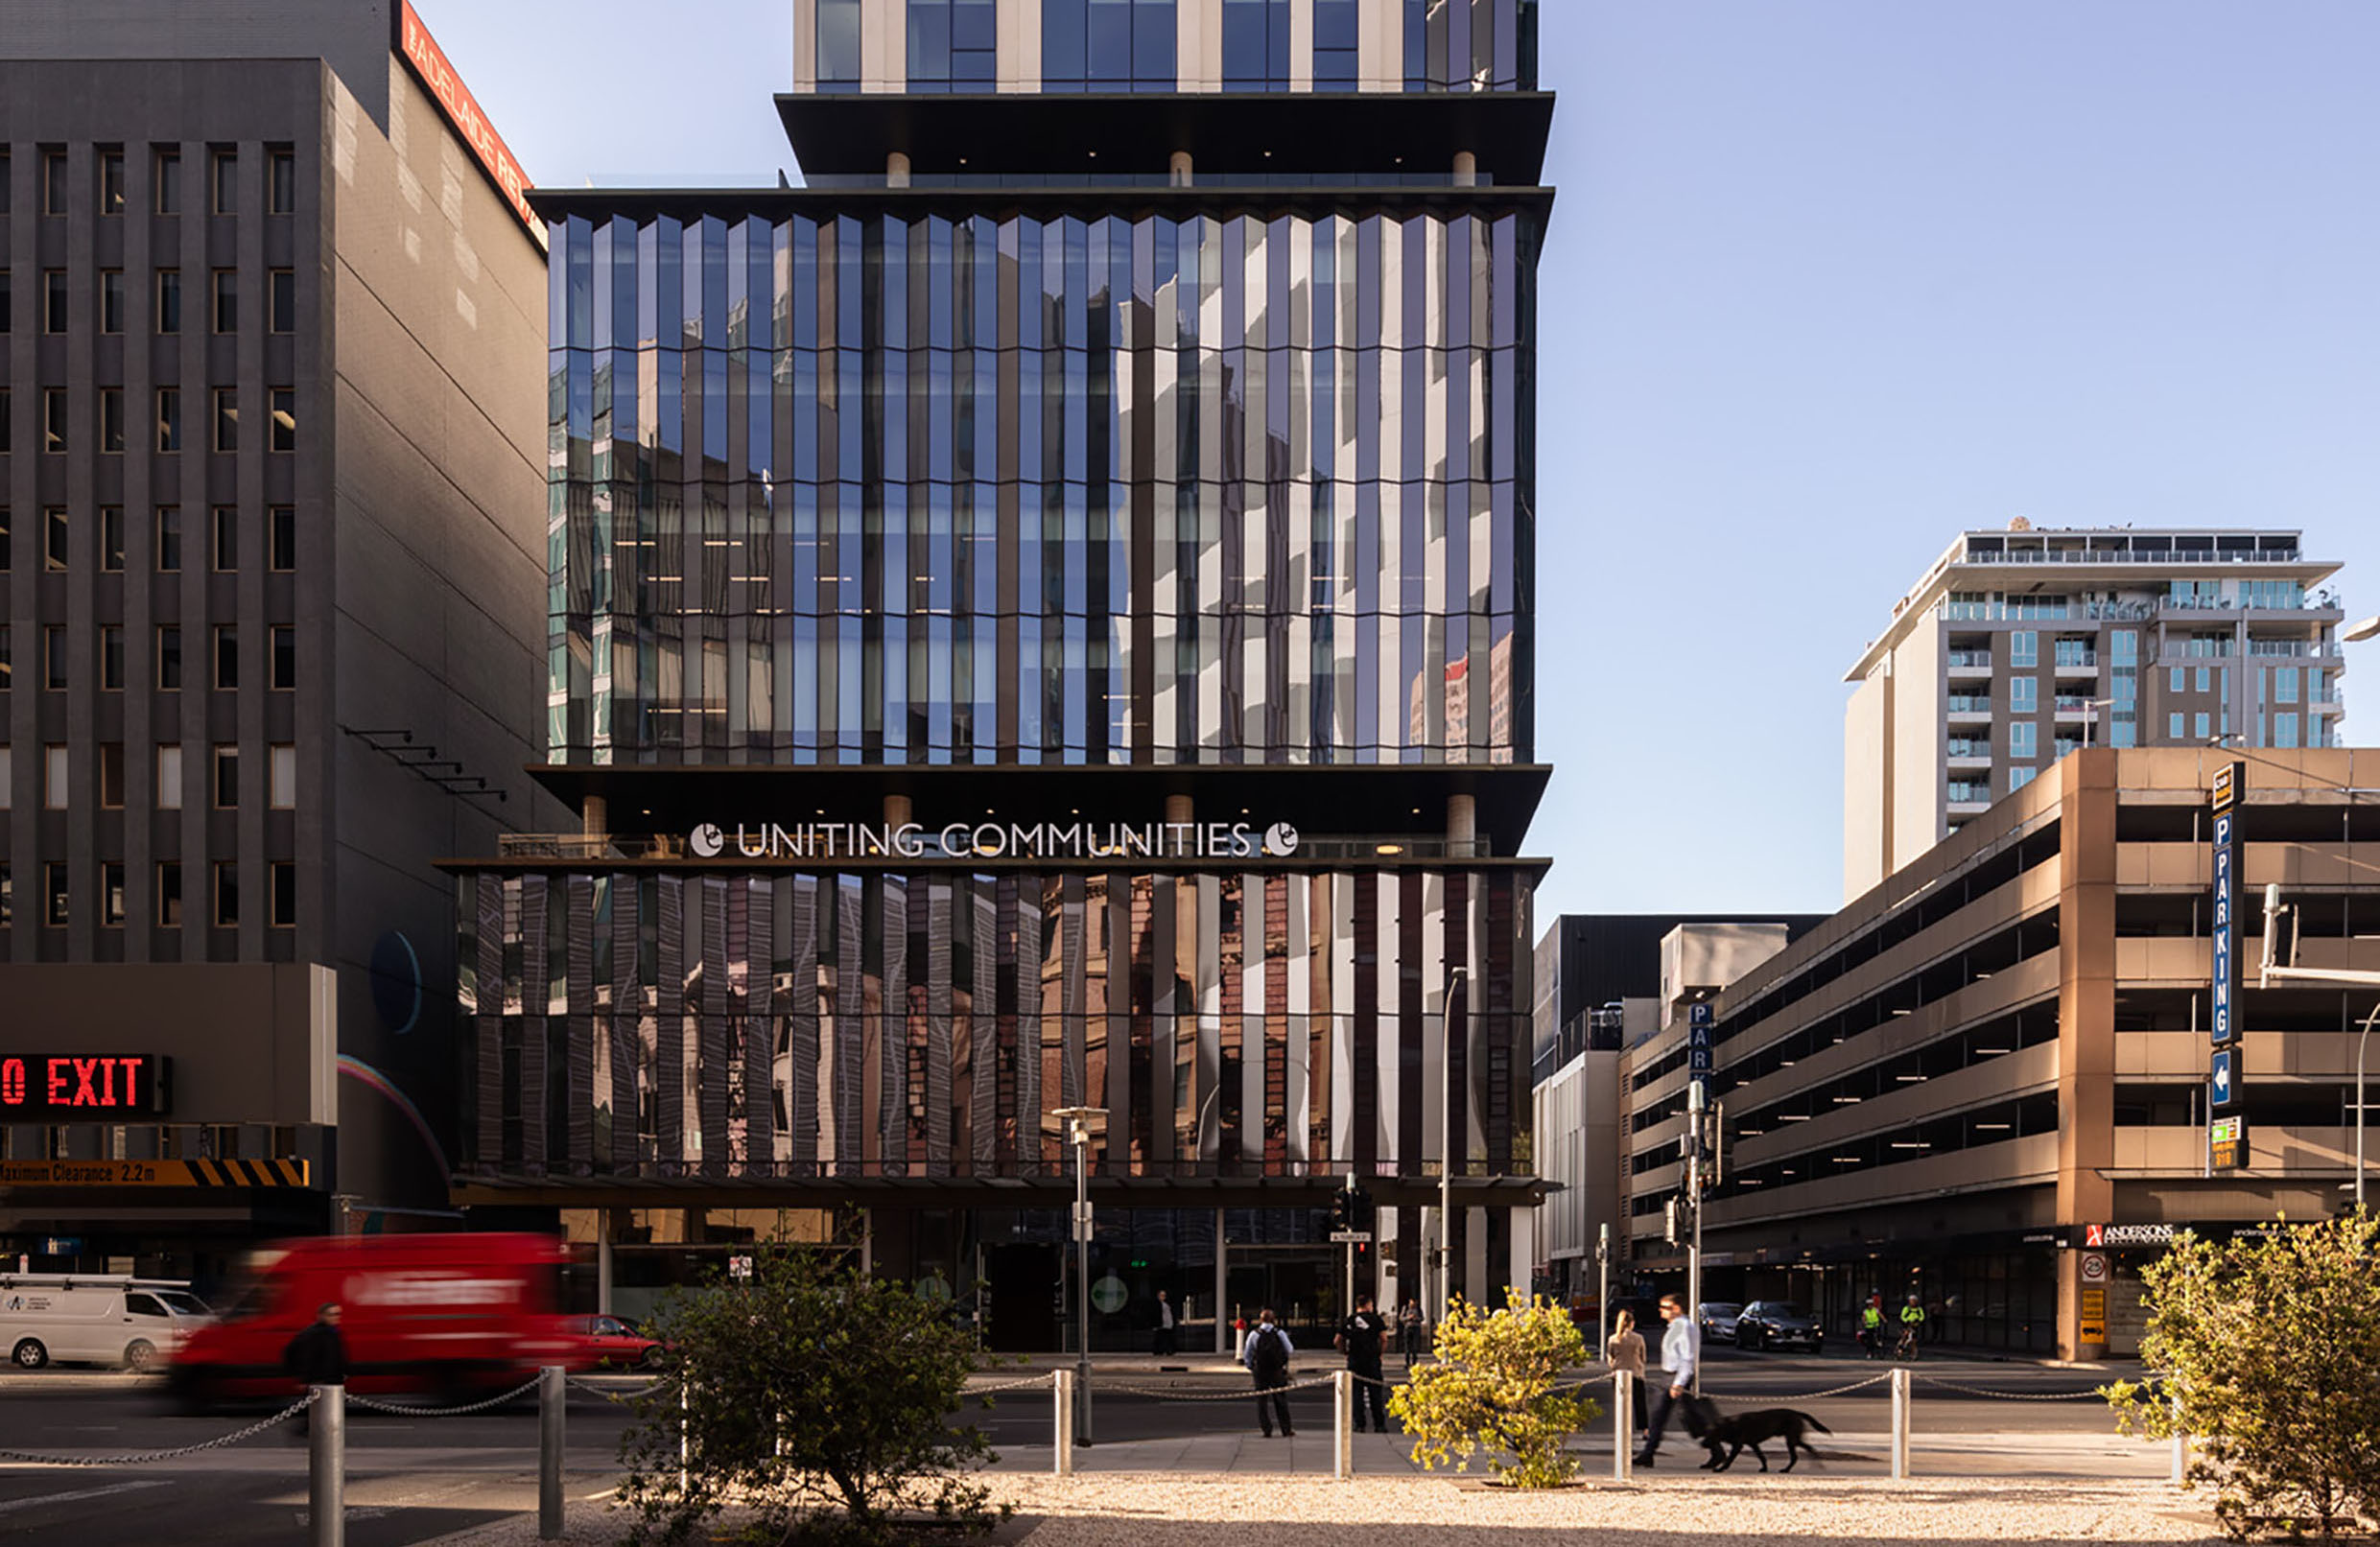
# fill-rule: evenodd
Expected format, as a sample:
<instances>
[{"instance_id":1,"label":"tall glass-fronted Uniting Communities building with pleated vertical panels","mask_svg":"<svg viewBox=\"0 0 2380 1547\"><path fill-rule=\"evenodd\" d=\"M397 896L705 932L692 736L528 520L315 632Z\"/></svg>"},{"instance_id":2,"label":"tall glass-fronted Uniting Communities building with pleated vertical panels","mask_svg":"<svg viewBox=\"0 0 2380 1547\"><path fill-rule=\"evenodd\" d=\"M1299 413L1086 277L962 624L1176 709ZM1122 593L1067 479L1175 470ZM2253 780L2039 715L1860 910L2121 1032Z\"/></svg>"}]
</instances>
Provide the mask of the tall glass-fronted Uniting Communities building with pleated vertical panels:
<instances>
[{"instance_id":1,"label":"tall glass-fronted Uniting Communities building with pleated vertical panels","mask_svg":"<svg viewBox=\"0 0 2380 1547\"><path fill-rule=\"evenodd\" d=\"M536 195L583 831L452 866L464 1202L1052 1347L1100 1107L1100 1340L1338 1314L1349 1173L1364 1288L1528 1283L1533 74L1514 0L802 0L804 186Z\"/></svg>"}]
</instances>

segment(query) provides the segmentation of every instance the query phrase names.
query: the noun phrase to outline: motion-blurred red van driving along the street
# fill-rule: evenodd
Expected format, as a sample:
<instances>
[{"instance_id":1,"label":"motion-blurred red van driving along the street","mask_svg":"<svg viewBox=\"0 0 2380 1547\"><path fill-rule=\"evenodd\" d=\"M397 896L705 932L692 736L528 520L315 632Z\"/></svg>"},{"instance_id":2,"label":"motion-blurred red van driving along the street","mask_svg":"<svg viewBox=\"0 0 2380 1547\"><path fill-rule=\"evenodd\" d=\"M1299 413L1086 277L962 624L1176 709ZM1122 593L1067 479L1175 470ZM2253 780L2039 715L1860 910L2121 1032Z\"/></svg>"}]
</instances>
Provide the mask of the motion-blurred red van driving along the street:
<instances>
[{"instance_id":1,"label":"motion-blurred red van driving along the street","mask_svg":"<svg viewBox=\"0 0 2380 1547\"><path fill-rule=\"evenodd\" d=\"M585 1333L557 1309L566 1252L547 1235L319 1235L257 1252L214 1326L167 1371L205 1407L293 1397L281 1366L326 1302L340 1307L347 1390L495 1395L538 1366L585 1368Z\"/></svg>"}]
</instances>

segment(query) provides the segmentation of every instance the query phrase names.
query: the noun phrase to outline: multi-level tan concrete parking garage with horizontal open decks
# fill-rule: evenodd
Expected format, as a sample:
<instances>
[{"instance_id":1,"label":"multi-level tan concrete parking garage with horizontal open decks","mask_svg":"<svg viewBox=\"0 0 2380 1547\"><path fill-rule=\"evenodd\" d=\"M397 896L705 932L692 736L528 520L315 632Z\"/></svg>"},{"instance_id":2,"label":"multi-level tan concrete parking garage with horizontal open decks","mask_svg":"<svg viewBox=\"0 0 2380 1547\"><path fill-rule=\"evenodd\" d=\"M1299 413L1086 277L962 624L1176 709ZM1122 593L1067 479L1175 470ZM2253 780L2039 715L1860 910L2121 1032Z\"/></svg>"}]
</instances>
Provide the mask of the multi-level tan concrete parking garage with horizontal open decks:
<instances>
[{"instance_id":1,"label":"multi-level tan concrete parking garage with horizontal open decks","mask_svg":"<svg viewBox=\"0 0 2380 1547\"><path fill-rule=\"evenodd\" d=\"M2249 1157L2209 1147L2209 785L2247 771L2240 883L2280 883L2299 964L2380 966L2380 754L2075 752L1714 1000L1728 1173L1706 1209L1714 1299L1937 1307L1944 1340L2075 1354L2140 1338L2137 1269L2180 1226L2228 1233L2342 1200L2368 990L2254 988ZM1685 1026L1623 1054L1635 1261L1680 1188ZM2085 1247L2109 1269L2085 1335ZM2123 1242L2132 1242L2130 1250Z\"/></svg>"}]
</instances>

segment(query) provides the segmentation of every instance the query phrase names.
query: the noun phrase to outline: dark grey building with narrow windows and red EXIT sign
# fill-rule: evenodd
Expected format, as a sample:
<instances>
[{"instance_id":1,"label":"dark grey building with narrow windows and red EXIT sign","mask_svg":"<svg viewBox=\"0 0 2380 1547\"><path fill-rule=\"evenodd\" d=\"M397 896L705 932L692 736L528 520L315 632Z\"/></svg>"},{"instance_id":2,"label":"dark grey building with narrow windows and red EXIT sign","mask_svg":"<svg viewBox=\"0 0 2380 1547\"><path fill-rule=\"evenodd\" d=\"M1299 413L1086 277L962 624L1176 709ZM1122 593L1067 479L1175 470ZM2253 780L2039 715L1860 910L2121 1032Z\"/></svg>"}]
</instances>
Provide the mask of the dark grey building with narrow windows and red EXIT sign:
<instances>
[{"instance_id":1,"label":"dark grey building with narrow windows and red EXIT sign","mask_svg":"<svg viewBox=\"0 0 2380 1547\"><path fill-rule=\"evenodd\" d=\"M431 859L540 823L545 228L505 178L386 5L7 7L10 1266L445 1207Z\"/></svg>"}]
</instances>

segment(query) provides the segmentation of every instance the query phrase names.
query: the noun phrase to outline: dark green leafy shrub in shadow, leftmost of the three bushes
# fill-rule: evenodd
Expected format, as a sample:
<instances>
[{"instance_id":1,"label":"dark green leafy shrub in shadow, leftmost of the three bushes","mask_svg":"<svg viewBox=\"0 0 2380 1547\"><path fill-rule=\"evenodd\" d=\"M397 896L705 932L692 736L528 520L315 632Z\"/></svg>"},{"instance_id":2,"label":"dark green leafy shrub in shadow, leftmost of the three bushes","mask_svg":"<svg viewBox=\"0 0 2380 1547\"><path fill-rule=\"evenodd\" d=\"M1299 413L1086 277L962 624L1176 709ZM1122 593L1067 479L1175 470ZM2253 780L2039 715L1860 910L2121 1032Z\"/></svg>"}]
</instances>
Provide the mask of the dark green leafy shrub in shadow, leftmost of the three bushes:
<instances>
[{"instance_id":1,"label":"dark green leafy shrub in shadow, leftmost of the three bushes","mask_svg":"<svg viewBox=\"0 0 2380 1547\"><path fill-rule=\"evenodd\" d=\"M671 1361L621 1438L633 1542L685 1542L728 1511L747 1542L838 1545L1007 1516L973 1480L990 1445L952 1421L978 1354L945 1302L762 1250L750 1278L666 1299L654 1333Z\"/></svg>"}]
</instances>

